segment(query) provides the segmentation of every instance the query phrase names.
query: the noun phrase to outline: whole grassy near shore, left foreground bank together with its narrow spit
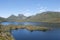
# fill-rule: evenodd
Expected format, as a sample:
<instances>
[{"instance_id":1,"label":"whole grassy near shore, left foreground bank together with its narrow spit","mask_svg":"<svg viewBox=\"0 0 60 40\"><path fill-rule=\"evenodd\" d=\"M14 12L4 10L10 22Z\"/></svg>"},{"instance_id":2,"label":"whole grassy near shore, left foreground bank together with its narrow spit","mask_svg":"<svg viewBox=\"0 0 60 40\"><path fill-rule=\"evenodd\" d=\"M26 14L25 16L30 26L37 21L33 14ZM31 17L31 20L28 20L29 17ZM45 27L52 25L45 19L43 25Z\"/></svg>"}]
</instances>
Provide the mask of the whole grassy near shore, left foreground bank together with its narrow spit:
<instances>
[{"instance_id":1,"label":"whole grassy near shore, left foreground bank together with its narrow spit","mask_svg":"<svg viewBox=\"0 0 60 40\"><path fill-rule=\"evenodd\" d=\"M27 29L30 31L48 31L51 28L48 27L40 27L40 26L32 26L32 25L0 25L0 39L2 40L14 40L13 36L10 34L11 30L17 30L17 29Z\"/></svg>"}]
</instances>

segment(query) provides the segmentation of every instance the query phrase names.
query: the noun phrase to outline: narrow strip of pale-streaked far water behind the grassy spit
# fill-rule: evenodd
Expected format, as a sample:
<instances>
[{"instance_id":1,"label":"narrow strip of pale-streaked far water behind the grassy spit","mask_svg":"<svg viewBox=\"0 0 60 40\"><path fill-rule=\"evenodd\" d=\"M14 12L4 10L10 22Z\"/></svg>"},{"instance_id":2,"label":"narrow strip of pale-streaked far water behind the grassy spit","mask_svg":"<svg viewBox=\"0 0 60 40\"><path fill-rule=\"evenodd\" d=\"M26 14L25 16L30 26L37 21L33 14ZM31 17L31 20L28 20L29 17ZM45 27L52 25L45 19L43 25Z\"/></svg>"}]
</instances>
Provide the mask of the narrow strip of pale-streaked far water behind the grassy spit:
<instances>
[{"instance_id":1,"label":"narrow strip of pale-streaked far water behind the grassy spit","mask_svg":"<svg viewBox=\"0 0 60 40\"><path fill-rule=\"evenodd\" d=\"M47 22L2 22L4 25L33 25L33 26L46 26L46 27L60 27L60 23L47 23Z\"/></svg>"}]
</instances>

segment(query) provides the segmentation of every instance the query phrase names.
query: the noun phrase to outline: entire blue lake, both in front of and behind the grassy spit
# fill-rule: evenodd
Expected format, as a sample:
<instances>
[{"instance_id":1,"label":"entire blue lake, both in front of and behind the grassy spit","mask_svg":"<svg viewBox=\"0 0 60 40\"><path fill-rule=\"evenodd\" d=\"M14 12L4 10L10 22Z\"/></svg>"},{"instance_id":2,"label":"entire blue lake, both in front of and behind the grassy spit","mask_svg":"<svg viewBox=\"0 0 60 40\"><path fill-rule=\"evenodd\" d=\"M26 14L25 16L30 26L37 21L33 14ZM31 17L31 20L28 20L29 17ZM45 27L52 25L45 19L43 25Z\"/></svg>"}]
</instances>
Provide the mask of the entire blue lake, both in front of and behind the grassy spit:
<instances>
[{"instance_id":1,"label":"entire blue lake, both in front of and behind the grassy spit","mask_svg":"<svg viewBox=\"0 0 60 40\"><path fill-rule=\"evenodd\" d=\"M11 34L15 40L60 40L60 23L44 23L44 22L3 22L3 25L33 25L53 27L50 31L29 31L26 29L12 30Z\"/></svg>"}]
</instances>

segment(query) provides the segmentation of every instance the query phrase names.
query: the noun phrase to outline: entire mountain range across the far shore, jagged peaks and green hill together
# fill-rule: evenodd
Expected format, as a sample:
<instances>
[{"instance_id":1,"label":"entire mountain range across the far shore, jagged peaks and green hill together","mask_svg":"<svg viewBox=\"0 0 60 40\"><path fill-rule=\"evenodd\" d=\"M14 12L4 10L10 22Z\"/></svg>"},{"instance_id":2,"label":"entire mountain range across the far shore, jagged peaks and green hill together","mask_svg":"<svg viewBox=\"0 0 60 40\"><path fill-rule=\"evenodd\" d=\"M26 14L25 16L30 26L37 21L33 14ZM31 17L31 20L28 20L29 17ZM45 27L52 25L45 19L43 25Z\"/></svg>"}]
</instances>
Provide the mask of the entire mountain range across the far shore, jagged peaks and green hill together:
<instances>
[{"instance_id":1,"label":"entire mountain range across the far shore, jagged peaks and green hill together","mask_svg":"<svg viewBox=\"0 0 60 40\"><path fill-rule=\"evenodd\" d=\"M18 16L11 15L8 18L0 17L0 21L60 22L60 12L47 11L29 17L26 17L23 14L18 14Z\"/></svg>"}]
</instances>

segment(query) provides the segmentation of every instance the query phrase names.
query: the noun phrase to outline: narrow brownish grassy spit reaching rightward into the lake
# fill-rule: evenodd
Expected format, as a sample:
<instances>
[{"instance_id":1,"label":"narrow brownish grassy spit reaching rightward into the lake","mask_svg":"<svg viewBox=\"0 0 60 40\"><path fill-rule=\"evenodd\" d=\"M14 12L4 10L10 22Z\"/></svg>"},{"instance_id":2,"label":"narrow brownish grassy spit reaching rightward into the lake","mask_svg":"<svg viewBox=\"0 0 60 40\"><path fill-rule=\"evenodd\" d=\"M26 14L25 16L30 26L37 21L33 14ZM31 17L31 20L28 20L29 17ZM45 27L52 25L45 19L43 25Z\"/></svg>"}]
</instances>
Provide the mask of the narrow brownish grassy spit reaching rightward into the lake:
<instances>
[{"instance_id":1,"label":"narrow brownish grassy spit reaching rightward into the lake","mask_svg":"<svg viewBox=\"0 0 60 40\"><path fill-rule=\"evenodd\" d=\"M2 31L10 31L10 30L15 30L15 29L28 29L28 30L50 30L51 28L48 27L40 27L40 26L32 26L32 25L3 25L2 26Z\"/></svg>"}]
</instances>

